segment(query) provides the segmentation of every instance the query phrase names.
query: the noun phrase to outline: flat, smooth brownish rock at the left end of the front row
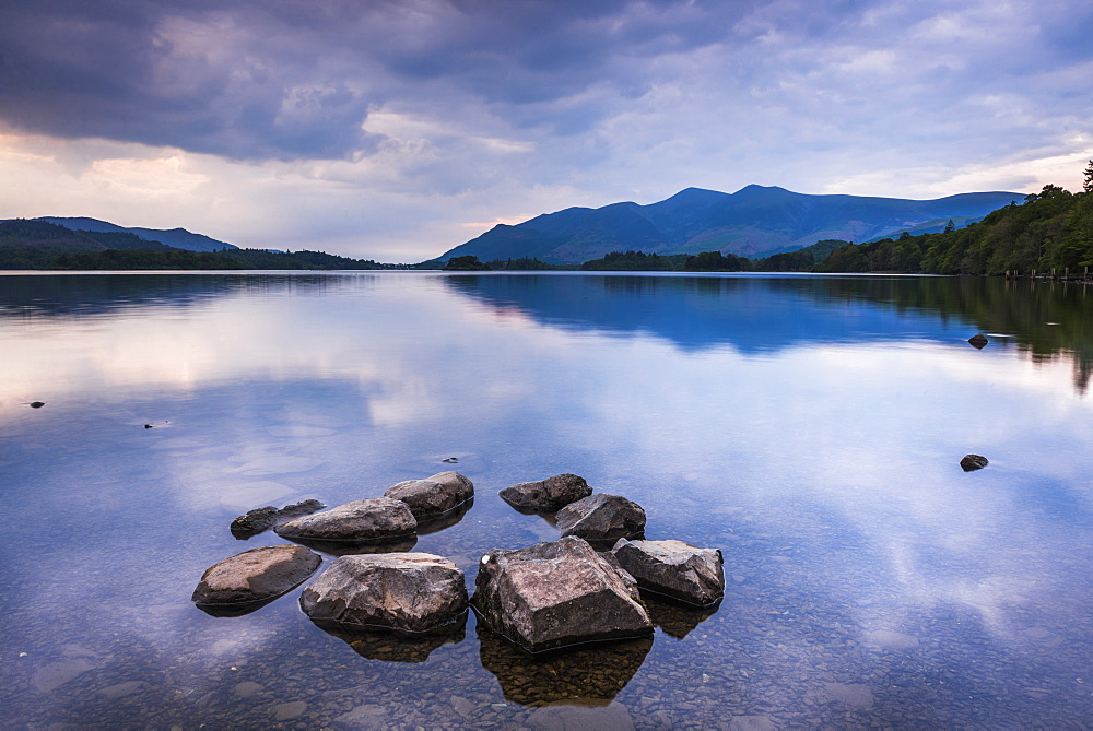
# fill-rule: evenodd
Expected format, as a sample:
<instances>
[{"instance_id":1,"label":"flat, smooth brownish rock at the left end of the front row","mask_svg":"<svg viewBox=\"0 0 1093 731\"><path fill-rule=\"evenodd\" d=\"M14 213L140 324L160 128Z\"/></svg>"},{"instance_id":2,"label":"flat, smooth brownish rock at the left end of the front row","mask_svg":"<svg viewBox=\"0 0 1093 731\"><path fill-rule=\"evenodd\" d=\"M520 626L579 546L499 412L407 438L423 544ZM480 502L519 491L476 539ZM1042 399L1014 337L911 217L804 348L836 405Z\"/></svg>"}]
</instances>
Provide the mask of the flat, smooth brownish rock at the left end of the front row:
<instances>
[{"instance_id":1,"label":"flat, smooth brownish rock at the left end of the front row","mask_svg":"<svg viewBox=\"0 0 1093 731\"><path fill-rule=\"evenodd\" d=\"M205 569L190 599L199 605L269 601L299 586L321 563L302 545L251 549Z\"/></svg>"}]
</instances>

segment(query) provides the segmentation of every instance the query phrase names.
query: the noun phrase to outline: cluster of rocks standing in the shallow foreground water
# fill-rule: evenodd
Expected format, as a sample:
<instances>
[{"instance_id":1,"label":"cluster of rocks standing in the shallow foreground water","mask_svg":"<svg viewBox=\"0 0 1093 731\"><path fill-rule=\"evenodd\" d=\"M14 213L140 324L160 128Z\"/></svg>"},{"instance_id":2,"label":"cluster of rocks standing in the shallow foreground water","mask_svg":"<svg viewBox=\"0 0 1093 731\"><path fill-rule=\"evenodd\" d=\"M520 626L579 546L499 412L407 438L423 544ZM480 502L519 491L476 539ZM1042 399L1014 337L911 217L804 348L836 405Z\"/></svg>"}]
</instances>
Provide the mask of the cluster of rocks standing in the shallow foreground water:
<instances>
[{"instance_id":1,"label":"cluster of rocks standing in the shallow foreground water","mask_svg":"<svg viewBox=\"0 0 1093 731\"><path fill-rule=\"evenodd\" d=\"M454 563L409 549L420 521L432 520L434 527L448 524L445 517L458 521L473 496L470 480L440 472L400 482L383 497L277 524L273 530L281 537L340 555L304 588L301 609L331 632L351 633L346 637L352 638L343 639L366 657L372 642L364 642L361 633L446 635L406 655L420 662L430 648L461 636L469 603L482 615L484 632L540 652L649 637L654 624L639 589L707 608L724 593L719 551L642 540L645 510L639 505L618 495L591 495L584 479L560 474L520 483L502 491L502 497L518 509L557 510L561 538L487 551L469 600L463 573ZM316 507L321 506L309 500L281 510L251 510L233 522L233 532L265 530L290 517L286 511ZM602 542L609 544L598 553L593 546ZM268 602L303 583L320 563L303 545L255 549L210 567L193 601L202 608Z\"/></svg>"}]
</instances>

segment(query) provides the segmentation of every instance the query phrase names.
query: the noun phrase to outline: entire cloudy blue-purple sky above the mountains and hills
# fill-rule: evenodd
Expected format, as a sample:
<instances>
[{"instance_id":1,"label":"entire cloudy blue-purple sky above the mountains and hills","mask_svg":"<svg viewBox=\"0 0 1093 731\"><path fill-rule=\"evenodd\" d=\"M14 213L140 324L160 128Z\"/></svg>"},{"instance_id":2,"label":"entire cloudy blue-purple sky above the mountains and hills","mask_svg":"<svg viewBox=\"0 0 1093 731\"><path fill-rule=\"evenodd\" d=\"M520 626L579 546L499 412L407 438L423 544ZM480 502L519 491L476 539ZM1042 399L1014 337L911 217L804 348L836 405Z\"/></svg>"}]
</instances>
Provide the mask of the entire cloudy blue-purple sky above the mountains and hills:
<instances>
[{"instance_id":1,"label":"entire cloudy blue-purple sky above the mountains and hills","mask_svg":"<svg viewBox=\"0 0 1093 731\"><path fill-rule=\"evenodd\" d=\"M687 187L1081 189L1089 0L0 0L0 219L388 262Z\"/></svg>"}]
</instances>

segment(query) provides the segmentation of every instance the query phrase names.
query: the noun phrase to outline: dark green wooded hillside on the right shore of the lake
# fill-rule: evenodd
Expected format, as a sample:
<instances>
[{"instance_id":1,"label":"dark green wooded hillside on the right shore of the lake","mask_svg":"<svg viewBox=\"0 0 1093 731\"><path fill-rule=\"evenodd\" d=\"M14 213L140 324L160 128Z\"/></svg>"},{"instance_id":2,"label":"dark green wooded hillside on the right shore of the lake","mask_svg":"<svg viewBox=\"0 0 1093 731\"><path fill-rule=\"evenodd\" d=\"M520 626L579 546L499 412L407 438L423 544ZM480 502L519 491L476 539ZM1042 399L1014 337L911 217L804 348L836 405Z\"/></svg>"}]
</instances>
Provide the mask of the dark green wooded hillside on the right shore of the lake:
<instances>
[{"instance_id":1,"label":"dark green wooded hillside on the right shore of the lake","mask_svg":"<svg viewBox=\"0 0 1093 731\"><path fill-rule=\"evenodd\" d=\"M836 249L818 272L1002 274L1093 266L1093 194L1044 186L967 228Z\"/></svg>"}]
</instances>

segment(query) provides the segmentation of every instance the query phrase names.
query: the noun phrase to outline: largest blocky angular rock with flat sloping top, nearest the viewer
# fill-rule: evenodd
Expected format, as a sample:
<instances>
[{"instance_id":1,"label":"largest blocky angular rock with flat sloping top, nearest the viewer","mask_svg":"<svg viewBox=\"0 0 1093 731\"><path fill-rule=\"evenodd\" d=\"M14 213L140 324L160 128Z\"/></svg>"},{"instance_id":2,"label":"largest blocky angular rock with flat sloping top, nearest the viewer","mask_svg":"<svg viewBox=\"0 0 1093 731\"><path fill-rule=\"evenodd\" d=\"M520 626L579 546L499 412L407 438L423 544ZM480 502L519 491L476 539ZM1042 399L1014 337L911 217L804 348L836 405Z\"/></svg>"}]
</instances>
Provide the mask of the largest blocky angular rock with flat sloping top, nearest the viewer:
<instances>
[{"instance_id":1,"label":"largest blocky angular rock with flat sloping top, nearest the viewer","mask_svg":"<svg viewBox=\"0 0 1093 731\"><path fill-rule=\"evenodd\" d=\"M531 652L653 630L634 580L579 538L482 556L474 608Z\"/></svg>"}]
</instances>

